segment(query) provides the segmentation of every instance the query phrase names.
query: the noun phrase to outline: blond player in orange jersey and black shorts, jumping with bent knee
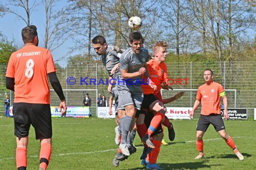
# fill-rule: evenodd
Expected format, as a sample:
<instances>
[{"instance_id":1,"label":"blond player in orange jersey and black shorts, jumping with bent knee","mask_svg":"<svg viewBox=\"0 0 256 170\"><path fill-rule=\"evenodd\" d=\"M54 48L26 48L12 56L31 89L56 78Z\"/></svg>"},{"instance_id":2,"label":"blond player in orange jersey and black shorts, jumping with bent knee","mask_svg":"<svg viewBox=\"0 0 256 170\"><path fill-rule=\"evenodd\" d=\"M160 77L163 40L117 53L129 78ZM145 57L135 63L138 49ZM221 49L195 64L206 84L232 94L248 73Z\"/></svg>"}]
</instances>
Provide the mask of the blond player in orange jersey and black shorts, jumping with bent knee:
<instances>
[{"instance_id":1,"label":"blond player in orange jersey and black shorts, jumping with bent knee","mask_svg":"<svg viewBox=\"0 0 256 170\"><path fill-rule=\"evenodd\" d=\"M161 141L163 140L163 128L161 122L164 120L168 121L170 129L172 129L171 139L174 140L175 137L172 124L169 122L168 118L164 119L166 107L163 102L156 97L156 94L158 94L161 89L162 83L168 80L167 67L164 63L167 55L167 47L168 45L166 42L160 41L155 43L153 47L154 59L147 62L150 79L153 81L154 85L156 85L156 90L151 89L149 85L141 85L144 98L141 104L141 112L136 123L137 132L141 137L141 141L150 148L153 148L147 164L143 164L147 153L146 148L144 148L141 155L141 164L146 165L147 169L161 169L156 163L161 147ZM152 110L154 112L152 112ZM150 138L152 136L154 136L154 139L151 141Z\"/></svg>"}]
</instances>

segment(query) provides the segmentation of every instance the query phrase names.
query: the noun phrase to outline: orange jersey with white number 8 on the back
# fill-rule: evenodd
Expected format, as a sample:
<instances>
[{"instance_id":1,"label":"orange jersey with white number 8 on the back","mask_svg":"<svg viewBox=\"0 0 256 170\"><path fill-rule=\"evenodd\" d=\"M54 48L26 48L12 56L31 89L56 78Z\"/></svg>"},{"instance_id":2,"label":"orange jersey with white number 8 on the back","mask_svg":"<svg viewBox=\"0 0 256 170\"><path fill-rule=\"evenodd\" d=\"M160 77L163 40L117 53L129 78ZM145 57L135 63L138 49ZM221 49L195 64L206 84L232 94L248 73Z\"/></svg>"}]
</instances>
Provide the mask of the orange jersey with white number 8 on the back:
<instances>
[{"instance_id":1,"label":"orange jersey with white number 8 on the back","mask_svg":"<svg viewBox=\"0 0 256 170\"><path fill-rule=\"evenodd\" d=\"M50 103L47 74L56 72L49 50L26 45L13 52L6 75L15 79L14 102Z\"/></svg>"}]
</instances>

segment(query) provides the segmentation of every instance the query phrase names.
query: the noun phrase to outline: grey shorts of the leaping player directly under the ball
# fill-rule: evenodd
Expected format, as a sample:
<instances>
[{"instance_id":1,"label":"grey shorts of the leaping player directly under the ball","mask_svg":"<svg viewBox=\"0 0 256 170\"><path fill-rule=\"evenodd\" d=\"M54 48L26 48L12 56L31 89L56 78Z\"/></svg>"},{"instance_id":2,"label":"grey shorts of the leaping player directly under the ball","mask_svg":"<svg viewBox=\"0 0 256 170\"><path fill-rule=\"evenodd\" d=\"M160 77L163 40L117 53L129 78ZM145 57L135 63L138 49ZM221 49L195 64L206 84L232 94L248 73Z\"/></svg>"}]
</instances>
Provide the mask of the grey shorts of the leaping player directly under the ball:
<instances>
[{"instance_id":1,"label":"grey shorts of the leaping player directly under the ball","mask_svg":"<svg viewBox=\"0 0 256 170\"><path fill-rule=\"evenodd\" d=\"M125 106L134 105L137 110L141 110L143 101L143 91L140 85L116 85L118 90L118 110Z\"/></svg>"}]
</instances>

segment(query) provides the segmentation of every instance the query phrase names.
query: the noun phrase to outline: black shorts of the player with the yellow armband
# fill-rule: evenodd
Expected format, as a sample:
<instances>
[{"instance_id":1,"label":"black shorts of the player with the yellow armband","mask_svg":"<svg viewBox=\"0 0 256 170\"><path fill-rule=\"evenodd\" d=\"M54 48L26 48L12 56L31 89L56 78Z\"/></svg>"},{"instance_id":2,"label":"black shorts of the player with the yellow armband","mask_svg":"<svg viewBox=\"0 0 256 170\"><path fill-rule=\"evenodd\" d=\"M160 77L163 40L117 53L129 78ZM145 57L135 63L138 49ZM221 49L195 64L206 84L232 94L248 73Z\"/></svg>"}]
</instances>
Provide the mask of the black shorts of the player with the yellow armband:
<instances>
[{"instance_id":1,"label":"black shorts of the player with the yellow armband","mask_svg":"<svg viewBox=\"0 0 256 170\"><path fill-rule=\"evenodd\" d=\"M221 115L200 115L196 130L206 132L209 125L212 124L216 132L225 129Z\"/></svg>"}]
</instances>

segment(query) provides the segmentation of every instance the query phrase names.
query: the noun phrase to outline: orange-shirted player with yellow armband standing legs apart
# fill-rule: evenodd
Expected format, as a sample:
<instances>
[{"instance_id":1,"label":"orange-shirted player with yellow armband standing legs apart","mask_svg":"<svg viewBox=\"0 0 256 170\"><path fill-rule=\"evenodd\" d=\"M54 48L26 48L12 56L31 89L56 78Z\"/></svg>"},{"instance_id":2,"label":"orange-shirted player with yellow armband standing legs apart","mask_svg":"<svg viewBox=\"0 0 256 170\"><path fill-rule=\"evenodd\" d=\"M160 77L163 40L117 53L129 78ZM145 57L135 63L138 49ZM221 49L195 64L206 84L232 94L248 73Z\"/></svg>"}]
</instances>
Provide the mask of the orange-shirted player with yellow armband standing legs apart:
<instances>
[{"instance_id":1,"label":"orange-shirted player with yellow armband standing legs apart","mask_svg":"<svg viewBox=\"0 0 256 170\"><path fill-rule=\"evenodd\" d=\"M226 133L225 125L221 117L222 98L224 104L224 118L225 120L229 119L228 99L225 90L221 84L212 81L212 70L204 70L203 78L205 84L198 88L196 100L194 102L193 109L190 112L190 118L192 119L194 111L199 107L201 103L201 115L196 127L196 146L199 151L199 155L195 157L195 159L203 158L203 135L207 131L209 125L212 124L216 132L219 132L220 136L234 150L234 153L238 159L243 160L243 155L236 148L232 137Z\"/></svg>"}]
</instances>

